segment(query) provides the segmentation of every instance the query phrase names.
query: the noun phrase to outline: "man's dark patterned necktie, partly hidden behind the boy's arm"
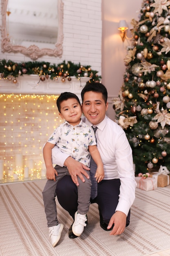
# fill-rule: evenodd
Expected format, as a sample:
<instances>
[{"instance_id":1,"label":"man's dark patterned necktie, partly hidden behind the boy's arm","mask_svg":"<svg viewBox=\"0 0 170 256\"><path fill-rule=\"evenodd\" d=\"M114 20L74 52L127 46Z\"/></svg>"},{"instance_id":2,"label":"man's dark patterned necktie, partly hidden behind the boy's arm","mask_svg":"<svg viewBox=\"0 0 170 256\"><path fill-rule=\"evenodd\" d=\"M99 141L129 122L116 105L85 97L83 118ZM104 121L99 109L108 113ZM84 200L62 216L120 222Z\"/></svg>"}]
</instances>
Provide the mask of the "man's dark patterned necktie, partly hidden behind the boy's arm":
<instances>
[{"instance_id":1,"label":"man's dark patterned necktie, partly hidden behind the boy's arm","mask_svg":"<svg viewBox=\"0 0 170 256\"><path fill-rule=\"evenodd\" d=\"M96 132L97 127L93 127L94 132ZM97 142L97 140L96 140ZM95 179L95 173L97 170L97 164L95 163L95 161L93 160L93 158L91 157L91 164L90 164L90 176L91 176L91 199L94 199L97 197L97 181Z\"/></svg>"}]
</instances>

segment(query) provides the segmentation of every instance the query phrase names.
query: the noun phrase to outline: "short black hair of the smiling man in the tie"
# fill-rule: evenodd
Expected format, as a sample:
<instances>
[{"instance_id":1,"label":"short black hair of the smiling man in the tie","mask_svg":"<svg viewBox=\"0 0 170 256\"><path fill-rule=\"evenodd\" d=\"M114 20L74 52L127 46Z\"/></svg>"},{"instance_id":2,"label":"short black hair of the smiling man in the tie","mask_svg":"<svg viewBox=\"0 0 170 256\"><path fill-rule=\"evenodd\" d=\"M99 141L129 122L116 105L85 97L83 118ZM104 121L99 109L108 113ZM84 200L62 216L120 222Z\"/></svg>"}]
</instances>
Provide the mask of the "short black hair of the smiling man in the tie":
<instances>
[{"instance_id":1,"label":"short black hair of the smiling man in the tie","mask_svg":"<svg viewBox=\"0 0 170 256\"><path fill-rule=\"evenodd\" d=\"M86 83L84 86L82 92L81 92L81 97L82 97L82 102L84 101L84 93L85 92L101 92L102 93L102 99L104 99L105 104L107 103L108 99L108 92L106 87L102 83L98 82L92 82L92 83Z\"/></svg>"}]
</instances>

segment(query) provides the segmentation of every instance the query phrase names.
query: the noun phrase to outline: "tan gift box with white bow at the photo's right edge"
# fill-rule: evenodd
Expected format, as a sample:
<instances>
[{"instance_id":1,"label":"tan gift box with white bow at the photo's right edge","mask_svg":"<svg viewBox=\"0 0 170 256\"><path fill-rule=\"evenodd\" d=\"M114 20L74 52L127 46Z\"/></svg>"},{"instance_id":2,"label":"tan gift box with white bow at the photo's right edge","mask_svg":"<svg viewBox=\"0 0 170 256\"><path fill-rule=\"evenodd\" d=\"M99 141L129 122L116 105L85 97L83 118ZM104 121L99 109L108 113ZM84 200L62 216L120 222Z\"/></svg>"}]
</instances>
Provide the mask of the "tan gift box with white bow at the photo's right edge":
<instances>
[{"instance_id":1,"label":"tan gift box with white bow at the photo's right edge","mask_svg":"<svg viewBox=\"0 0 170 256\"><path fill-rule=\"evenodd\" d=\"M157 186L163 188L170 184L170 172L166 166L160 166L158 172L150 172L150 177L157 178Z\"/></svg>"}]
</instances>

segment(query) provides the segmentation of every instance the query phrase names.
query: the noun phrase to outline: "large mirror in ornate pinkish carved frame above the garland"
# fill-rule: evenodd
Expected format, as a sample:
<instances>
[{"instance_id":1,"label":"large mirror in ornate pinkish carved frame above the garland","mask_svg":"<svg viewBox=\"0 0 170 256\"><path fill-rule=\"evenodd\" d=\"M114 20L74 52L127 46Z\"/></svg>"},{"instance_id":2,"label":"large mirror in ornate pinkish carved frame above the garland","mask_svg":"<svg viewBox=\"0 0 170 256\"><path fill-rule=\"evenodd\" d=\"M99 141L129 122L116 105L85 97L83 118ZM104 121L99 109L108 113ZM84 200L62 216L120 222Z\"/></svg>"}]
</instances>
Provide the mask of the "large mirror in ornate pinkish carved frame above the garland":
<instances>
[{"instance_id":1,"label":"large mirror in ornate pinkish carved frame above the garland","mask_svg":"<svg viewBox=\"0 0 170 256\"><path fill-rule=\"evenodd\" d=\"M2 52L20 52L32 60L61 57L62 0L1 0Z\"/></svg>"}]
</instances>

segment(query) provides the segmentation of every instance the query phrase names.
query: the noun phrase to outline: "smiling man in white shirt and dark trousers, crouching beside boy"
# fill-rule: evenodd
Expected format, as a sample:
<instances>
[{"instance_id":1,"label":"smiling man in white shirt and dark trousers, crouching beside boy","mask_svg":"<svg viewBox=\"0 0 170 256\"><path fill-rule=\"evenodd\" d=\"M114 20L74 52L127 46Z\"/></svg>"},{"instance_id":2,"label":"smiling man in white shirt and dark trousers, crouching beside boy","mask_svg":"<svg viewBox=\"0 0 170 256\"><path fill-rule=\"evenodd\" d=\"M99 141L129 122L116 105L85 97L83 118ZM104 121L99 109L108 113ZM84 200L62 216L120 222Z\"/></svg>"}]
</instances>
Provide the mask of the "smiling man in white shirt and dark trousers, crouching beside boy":
<instances>
[{"instance_id":1,"label":"smiling man in white shirt and dark trousers, crouching beside boy","mask_svg":"<svg viewBox=\"0 0 170 256\"><path fill-rule=\"evenodd\" d=\"M97 127L95 132L97 148L104 164L104 180L97 184L97 196L91 199L99 208L100 226L111 230L110 235L124 232L130 222L130 207L135 200L135 173L133 170L132 150L124 130L106 116L108 109L107 90L101 83L87 84L81 93L83 121ZM53 164L66 166L71 176L63 177L57 184L56 193L59 203L74 219L77 211L77 176L84 182L83 170L87 168L71 156L53 148ZM72 180L71 180L72 179ZM75 184L74 184L75 183ZM76 236L72 226L68 231L70 238Z\"/></svg>"}]
</instances>

